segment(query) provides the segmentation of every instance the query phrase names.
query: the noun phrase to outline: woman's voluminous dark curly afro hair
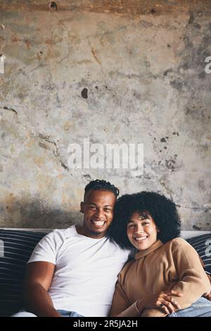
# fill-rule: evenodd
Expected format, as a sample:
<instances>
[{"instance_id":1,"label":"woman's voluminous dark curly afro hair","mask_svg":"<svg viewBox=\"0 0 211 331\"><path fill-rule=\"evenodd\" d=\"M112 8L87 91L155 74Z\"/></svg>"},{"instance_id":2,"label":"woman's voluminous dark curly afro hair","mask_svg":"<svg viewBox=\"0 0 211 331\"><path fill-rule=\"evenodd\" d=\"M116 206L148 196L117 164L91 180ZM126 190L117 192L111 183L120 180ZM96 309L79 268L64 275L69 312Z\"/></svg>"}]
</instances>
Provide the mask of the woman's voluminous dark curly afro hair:
<instances>
[{"instance_id":1,"label":"woman's voluminous dark curly afro hair","mask_svg":"<svg viewBox=\"0 0 211 331\"><path fill-rule=\"evenodd\" d=\"M181 220L176 205L162 194L140 192L125 194L117 199L113 222L108 228L107 236L114 239L122 248L132 248L127 237L127 223L132 213L149 214L158 229L158 239L165 243L179 237Z\"/></svg>"}]
</instances>

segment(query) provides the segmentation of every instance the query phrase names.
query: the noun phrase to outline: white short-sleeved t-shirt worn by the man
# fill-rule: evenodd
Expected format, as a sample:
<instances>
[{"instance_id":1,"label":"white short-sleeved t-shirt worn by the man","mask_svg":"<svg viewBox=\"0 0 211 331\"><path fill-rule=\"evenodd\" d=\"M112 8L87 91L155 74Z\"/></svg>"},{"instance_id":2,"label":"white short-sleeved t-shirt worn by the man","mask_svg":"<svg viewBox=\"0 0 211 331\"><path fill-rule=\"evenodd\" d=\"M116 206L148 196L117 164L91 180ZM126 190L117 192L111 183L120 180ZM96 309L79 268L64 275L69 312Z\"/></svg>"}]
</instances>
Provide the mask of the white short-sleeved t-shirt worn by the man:
<instances>
[{"instance_id":1,"label":"white short-sleeved t-shirt worn by the man","mask_svg":"<svg viewBox=\"0 0 211 331\"><path fill-rule=\"evenodd\" d=\"M82 316L108 316L117 275L130 251L107 237L79 235L75 225L54 230L35 247L30 262L56 265L49 294L54 307Z\"/></svg>"}]
</instances>

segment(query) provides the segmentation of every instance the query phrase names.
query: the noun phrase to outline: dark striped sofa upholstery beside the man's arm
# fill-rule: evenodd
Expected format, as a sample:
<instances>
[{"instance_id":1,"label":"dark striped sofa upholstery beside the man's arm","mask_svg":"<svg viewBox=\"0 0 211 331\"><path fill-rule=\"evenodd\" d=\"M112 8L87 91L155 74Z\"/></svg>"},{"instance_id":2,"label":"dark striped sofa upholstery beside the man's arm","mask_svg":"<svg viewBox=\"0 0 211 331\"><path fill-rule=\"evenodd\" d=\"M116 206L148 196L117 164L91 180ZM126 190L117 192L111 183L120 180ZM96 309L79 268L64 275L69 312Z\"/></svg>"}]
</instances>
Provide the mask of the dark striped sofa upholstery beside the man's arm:
<instances>
[{"instance_id":1,"label":"dark striped sofa upholstery beside the man's arm","mask_svg":"<svg viewBox=\"0 0 211 331\"><path fill-rule=\"evenodd\" d=\"M0 230L0 316L11 316L23 308L25 266L44 235L46 233Z\"/></svg>"}]
</instances>

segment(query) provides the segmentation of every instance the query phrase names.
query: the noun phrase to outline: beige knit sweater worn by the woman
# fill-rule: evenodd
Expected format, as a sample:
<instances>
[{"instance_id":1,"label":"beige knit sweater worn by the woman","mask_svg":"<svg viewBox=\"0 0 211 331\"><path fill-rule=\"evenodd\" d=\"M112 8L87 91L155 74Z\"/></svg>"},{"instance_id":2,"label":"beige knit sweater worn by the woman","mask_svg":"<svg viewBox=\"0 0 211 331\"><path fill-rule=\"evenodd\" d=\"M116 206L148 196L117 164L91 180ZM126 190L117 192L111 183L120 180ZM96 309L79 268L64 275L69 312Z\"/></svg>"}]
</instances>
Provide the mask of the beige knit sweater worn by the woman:
<instances>
[{"instance_id":1,"label":"beige knit sweater worn by the woman","mask_svg":"<svg viewBox=\"0 0 211 331\"><path fill-rule=\"evenodd\" d=\"M110 316L140 316L137 300L141 299L144 308L146 296L166 289L183 294L175 296L182 309L210 293L210 280L197 252L181 238L165 244L158 240L148 249L139 251L135 260L124 266L118 276ZM147 308L141 316L165 317L166 314L160 308Z\"/></svg>"}]
</instances>

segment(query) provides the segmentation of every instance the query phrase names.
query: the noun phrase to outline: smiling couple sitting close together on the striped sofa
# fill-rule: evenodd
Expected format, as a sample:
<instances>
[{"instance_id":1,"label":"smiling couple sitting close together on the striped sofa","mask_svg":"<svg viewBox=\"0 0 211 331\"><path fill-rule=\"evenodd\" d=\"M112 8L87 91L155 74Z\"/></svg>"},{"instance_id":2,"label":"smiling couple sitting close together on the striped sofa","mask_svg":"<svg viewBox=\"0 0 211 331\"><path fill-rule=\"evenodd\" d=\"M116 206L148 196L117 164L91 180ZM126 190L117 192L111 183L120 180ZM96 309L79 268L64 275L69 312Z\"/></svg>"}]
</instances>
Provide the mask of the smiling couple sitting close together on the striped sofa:
<instances>
[{"instance_id":1,"label":"smiling couple sitting close together on the striped sofa","mask_svg":"<svg viewBox=\"0 0 211 331\"><path fill-rule=\"evenodd\" d=\"M179 237L174 202L155 192L118 194L110 182L89 182L83 224L54 230L35 247L25 310L14 317L211 316L210 280Z\"/></svg>"}]
</instances>

